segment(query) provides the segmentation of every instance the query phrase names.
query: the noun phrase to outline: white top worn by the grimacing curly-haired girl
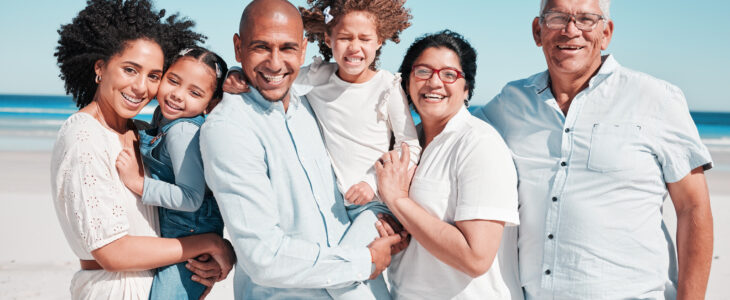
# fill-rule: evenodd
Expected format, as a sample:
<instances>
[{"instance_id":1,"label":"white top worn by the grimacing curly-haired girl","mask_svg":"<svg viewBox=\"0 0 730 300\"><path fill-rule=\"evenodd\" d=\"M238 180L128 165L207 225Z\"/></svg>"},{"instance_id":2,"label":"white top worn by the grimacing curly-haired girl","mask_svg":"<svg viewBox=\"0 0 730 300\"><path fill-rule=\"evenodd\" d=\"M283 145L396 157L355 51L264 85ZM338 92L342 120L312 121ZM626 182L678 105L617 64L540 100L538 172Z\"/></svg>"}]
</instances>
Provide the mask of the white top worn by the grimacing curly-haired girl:
<instances>
[{"instance_id":1,"label":"white top worn by the grimacing curly-haired girl","mask_svg":"<svg viewBox=\"0 0 730 300\"><path fill-rule=\"evenodd\" d=\"M349 83L336 72L337 64L316 58L302 68L296 83L310 89L306 97L317 115L342 194L364 181L377 195L375 161L389 150L392 136L396 150L400 151L401 142L408 144L412 165L421 152L400 75L379 70L365 83Z\"/></svg>"}]
</instances>

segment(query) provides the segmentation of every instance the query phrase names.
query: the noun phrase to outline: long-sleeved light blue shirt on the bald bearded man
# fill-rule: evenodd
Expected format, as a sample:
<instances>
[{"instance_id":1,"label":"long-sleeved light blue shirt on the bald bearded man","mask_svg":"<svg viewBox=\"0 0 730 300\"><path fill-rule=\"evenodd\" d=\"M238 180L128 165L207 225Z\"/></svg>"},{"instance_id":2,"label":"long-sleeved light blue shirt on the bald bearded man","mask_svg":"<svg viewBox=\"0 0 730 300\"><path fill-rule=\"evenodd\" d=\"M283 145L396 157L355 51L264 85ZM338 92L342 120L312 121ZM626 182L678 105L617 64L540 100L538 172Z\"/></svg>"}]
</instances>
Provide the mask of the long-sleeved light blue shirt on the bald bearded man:
<instances>
[{"instance_id":1,"label":"long-sleeved light blue shirt on the bald bearded man","mask_svg":"<svg viewBox=\"0 0 730 300\"><path fill-rule=\"evenodd\" d=\"M236 299L329 299L369 277L366 247L337 246L350 219L306 98L284 111L254 89L225 94L200 146L238 256Z\"/></svg>"}]
</instances>

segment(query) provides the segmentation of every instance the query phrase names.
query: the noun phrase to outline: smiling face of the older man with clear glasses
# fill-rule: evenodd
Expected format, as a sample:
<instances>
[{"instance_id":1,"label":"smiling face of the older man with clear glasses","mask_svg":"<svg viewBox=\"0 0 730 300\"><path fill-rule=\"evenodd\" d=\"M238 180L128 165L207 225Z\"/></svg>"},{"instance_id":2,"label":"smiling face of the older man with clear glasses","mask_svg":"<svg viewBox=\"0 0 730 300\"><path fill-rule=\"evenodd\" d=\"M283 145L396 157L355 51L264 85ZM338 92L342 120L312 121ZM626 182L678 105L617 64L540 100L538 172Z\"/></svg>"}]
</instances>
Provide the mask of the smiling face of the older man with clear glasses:
<instances>
[{"instance_id":1,"label":"smiling face of the older man with clear glasses","mask_svg":"<svg viewBox=\"0 0 730 300\"><path fill-rule=\"evenodd\" d=\"M544 11L603 14L598 0L550 0ZM601 50L611 42L613 22L599 21L593 30L582 31L572 21L563 29L549 29L535 18L532 32L551 74L589 76L601 66Z\"/></svg>"}]
</instances>

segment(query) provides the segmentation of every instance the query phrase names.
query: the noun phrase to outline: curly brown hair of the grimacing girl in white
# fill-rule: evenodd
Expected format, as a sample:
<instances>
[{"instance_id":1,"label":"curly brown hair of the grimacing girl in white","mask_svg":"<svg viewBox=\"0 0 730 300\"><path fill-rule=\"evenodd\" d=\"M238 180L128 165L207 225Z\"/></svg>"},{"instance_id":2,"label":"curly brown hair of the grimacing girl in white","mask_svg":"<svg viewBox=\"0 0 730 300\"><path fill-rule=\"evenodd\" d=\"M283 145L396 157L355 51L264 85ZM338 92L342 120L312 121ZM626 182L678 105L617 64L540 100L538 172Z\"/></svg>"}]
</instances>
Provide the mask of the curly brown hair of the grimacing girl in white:
<instances>
[{"instance_id":1,"label":"curly brown hair of the grimacing girl in white","mask_svg":"<svg viewBox=\"0 0 730 300\"><path fill-rule=\"evenodd\" d=\"M317 42L319 53L325 61L332 58L332 49L324 42L324 34L331 34L332 27L339 23L342 16L353 12L363 11L369 13L377 27L378 38L385 45L386 40L396 44L400 42L400 33L411 26L413 18L411 10L405 8L405 0L307 0L309 9L299 7L304 22L306 37L312 42ZM334 19L325 23L324 10L329 7L329 14ZM381 45L382 47L382 45ZM375 70L380 58L380 48L375 52L375 60L370 64L370 69Z\"/></svg>"}]
</instances>

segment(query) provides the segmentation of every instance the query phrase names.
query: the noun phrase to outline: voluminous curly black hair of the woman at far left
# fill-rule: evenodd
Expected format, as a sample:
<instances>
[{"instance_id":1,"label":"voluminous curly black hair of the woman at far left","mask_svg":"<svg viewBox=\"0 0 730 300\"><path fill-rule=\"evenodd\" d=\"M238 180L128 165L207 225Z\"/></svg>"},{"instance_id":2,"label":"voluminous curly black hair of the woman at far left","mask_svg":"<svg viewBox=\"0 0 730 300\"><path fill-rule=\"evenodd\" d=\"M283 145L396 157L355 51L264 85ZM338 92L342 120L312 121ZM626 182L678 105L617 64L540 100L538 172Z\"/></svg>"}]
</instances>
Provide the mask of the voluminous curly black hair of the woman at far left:
<instances>
[{"instance_id":1,"label":"voluminous curly black hair of the woman at far left","mask_svg":"<svg viewBox=\"0 0 730 300\"><path fill-rule=\"evenodd\" d=\"M71 23L58 30L56 52L59 77L76 106L83 108L94 100L97 85L94 64L121 53L129 41L149 39L165 54L165 68L177 52L203 42L206 37L193 32L193 21L177 14L167 17L156 11L148 0L88 0L86 8Z\"/></svg>"}]
</instances>

